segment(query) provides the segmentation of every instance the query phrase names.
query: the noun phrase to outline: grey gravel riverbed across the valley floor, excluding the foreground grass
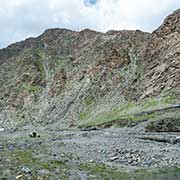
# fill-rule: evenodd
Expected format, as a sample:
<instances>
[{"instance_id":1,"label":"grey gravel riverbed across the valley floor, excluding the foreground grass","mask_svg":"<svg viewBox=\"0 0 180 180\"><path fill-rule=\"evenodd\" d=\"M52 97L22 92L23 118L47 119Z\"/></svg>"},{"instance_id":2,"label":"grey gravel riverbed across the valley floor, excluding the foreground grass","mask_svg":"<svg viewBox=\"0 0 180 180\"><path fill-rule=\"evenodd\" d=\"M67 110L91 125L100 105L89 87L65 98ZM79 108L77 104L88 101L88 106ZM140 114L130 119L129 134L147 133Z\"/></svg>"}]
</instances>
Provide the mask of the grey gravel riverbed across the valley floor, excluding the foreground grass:
<instances>
[{"instance_id":1,"label":"grey gravel riverbed across the valley floor, excluding the foreground grass","mask_svg":"<svg viewBox=\"0 0 180 180\"><path fill-rule=\"evenodd\" d=\"M36 137L30 134L36 132ZM41 162L59 161L68 162L71 166L77 164L105 164L123 170L178 168L180 166L180 143L158 142L155 139L173 140L180 133L146 133L135 131L133 128L109 128L92 131L81 130L53 130L22 128L15 131L0 132L0 174L7 179L18 178L27 171L46 174L47 168L39 167L38 172L33 166L26 169L26 160L21 152L31 151L33 158ZM151 137L148 140L147 137ZM173 142L173 141L172 141ZM18 154L17 157L17 153ZM20 156L20 157L19 157ZM15 157L15 158L14 158ZM14 162L11 162L14 160ZM19 165L16 164L17 163ZM35 161L36 162L36 161ZM17 167L11 167L16 164ZM19 166L19 167L18 167ZM25 167L24 167L25 166ZM24 169L22 169L24 168ZM41 171L40 171L41 170ZM54 169L48 170L50 174ZM71 177L87 179L78 174L79 169L72 167ZM11 174L8 175L8 173ZM74 173L74 174L73 174ZM1 177L0 176L0 177ZM31 179L31 176L28 176ZM95 178L96 179L96 178ZM98 178L97 178L98 179Z\"/></svg>"}]
</instances>

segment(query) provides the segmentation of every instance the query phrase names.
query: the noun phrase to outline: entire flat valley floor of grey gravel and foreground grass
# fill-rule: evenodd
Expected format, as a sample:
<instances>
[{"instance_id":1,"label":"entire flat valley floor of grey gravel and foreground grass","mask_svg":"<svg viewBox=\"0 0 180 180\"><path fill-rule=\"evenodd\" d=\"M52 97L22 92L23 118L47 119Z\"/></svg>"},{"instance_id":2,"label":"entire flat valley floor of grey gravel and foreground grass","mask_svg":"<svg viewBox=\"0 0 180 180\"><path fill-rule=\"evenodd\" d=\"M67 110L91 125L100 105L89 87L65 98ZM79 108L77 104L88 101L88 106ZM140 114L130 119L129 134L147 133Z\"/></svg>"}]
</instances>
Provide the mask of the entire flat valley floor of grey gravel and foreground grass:
<instances>
[{"instance_id":1,"label":"entire flat valley floor of grey gravel and foreground grass","mask_svg":"<svg viewBox=\"0 0 180 180\"><path fill-rule=\"evenodd\" d=\"M180 178L180 133L23 127L0 136L4 180Z\"/></svg>"}]
</instances>

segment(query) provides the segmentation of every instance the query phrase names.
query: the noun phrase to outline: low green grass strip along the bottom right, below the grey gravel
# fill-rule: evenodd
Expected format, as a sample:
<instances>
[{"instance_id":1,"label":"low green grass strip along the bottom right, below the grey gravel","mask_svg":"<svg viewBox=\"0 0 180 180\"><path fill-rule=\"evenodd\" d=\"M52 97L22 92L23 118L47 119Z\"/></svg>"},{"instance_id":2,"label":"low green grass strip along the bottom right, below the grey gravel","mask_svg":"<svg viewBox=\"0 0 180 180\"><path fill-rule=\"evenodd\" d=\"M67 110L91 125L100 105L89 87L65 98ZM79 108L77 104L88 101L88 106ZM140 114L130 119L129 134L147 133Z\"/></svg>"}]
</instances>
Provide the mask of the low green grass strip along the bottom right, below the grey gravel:
<instances>
[{"instance_id":1,"label":"low green grass strip along the bottom right, below the grey gravel","mask_svg":"<svg viewBox=\"0 0 180 180\"><path fill-rule=\"evenodd\" d=\"M169 169L137 169L131 171L120 170L105 164L82 163L80 170L88 174L88 179L97 180L176 180L180 178L180 168Z\"/></svg>"}]
</instances>

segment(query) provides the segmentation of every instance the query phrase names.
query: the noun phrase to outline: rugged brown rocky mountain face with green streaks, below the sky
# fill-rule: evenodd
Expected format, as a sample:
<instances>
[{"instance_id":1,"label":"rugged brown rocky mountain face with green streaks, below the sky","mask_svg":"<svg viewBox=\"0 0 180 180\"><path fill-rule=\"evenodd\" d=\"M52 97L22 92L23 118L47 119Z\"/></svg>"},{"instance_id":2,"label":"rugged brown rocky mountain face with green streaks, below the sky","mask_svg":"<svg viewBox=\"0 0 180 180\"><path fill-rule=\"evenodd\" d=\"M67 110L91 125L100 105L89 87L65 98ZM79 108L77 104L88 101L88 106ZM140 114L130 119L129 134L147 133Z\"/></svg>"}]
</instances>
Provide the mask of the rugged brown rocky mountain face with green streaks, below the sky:
<instances>
[{"instance_id":1,"label":"rugged brown rocky mountain face with green streaks, below the sky","mask_svg":"<svg viewBox=\"0 0 180 180\"><path fill-rule=\"evenodd\" d=\"M78 126L129 102L178 99L179 74L180 10L153 33L49 29L0 50L0 122Z\"/></svg>"}]
</instances>

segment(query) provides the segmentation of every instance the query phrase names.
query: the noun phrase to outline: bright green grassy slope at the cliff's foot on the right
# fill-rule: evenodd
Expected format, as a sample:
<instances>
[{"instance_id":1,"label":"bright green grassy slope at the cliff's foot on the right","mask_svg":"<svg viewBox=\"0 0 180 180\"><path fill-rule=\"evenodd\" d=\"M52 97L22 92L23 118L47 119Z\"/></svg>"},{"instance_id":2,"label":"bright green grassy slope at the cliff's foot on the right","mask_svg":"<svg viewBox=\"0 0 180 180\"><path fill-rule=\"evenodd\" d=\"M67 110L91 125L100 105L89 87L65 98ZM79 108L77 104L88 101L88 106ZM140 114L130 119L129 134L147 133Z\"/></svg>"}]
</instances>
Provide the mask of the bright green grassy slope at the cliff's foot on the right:
<instances>
[{"instance_id":1,"label":"bright green grassy slope at the cliff's foot on the right","mask_svg":"<svg viewBox=\"0 0 180 180\"><path fill-rule=\"evenodd\" d=\"M161 116L155 110L175 104L175 96L165 96L161 98L149 98L139 104L127 102L119 107L97 114L93 119L79 124L79 127L110 127L110 126L134 126L145 120L152 120ZM87 114L82 114L83 119L88 119Z\"/></svg>"}]
</instances>

